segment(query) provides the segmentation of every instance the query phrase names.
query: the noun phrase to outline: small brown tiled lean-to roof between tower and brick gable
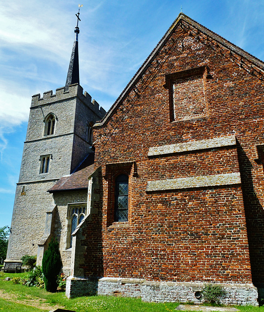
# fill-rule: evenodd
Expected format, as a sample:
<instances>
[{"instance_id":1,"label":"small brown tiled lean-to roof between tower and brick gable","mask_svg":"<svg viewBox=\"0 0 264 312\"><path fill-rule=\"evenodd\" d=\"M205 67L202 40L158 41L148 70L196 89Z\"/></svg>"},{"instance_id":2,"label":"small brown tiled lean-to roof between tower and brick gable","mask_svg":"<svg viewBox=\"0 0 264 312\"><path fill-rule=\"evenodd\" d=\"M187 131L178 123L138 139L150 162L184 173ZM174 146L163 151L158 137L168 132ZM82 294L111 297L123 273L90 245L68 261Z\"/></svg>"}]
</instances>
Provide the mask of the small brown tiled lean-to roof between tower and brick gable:
<instances>
[{"instance_id":1,"label":"small brown tiled lean-to roof between tower and brick gable","mask_svg":"<svg viewBox=\"0 0 264 312\"><path fill-rule=\"evenodd\" d=\"M88 178L93 172L94 153L90 153L70 176L62 176L48 192L85 190L88 188Z\"/></svg>"}]
</instances>

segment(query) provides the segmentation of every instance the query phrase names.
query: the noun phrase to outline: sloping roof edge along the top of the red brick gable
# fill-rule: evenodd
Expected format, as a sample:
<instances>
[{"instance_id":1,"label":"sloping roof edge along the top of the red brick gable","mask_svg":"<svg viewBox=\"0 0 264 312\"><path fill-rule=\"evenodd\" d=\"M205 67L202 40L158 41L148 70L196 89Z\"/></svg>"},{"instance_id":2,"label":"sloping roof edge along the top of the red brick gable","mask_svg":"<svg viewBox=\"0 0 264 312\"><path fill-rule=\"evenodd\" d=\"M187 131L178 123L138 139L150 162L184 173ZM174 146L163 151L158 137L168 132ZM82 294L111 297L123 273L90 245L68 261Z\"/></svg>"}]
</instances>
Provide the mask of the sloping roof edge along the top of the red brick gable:
<instances>
[{"instance_id":1,"label":"sloping roof edge along the top of the red brick gable","mask_svg":"<svg viewBox=\"0 0 264 312\"><path fill-rule=\"evenodd\" d=\"M100 122L96 122L94 124L94 128L101 127L105 124L105 122L111 117L111 115L114 113L116 108L122 103L122 100L126 97L126 95L133 89L133 86L137 82L137 80L142 76L144 71L149 67L150 63L155 59L157 54L160 52L162 47L164 46L165 42L170 38L170 35L174 32L175 28L181 25L181 22L184 21L186 24L196 28L199 32L201 32L203 35L207 36L207 38L213 39L217 44L222 45L223 47L227 48L230 53L233 52L234 54L238 55L241 58L246 59L249 63L254 64L258 69L262 71L262 75L264 75L264 62L253 55L247 53L240 47L236 46L235 44L231 43L230 41L224 39L223 37L217 35L216 33L212 32L208 28L204 27L203 25L199 24L195 20L190 19L187 15L180 13L177 17L177 19L172 23L170 28L167 30L165 35L162 37L162 39L159 41L159 43L156 45L156 47L153 49L153 51L150 53L150 55L147 57L147 59L143 62L142 66L139 68L137 73L134 75L134 77L129 81L127 86L122 91L121 95L117 98L115 103L111 106L107 114L104 116L104 118Z\"/></svg>"}]
</instances>

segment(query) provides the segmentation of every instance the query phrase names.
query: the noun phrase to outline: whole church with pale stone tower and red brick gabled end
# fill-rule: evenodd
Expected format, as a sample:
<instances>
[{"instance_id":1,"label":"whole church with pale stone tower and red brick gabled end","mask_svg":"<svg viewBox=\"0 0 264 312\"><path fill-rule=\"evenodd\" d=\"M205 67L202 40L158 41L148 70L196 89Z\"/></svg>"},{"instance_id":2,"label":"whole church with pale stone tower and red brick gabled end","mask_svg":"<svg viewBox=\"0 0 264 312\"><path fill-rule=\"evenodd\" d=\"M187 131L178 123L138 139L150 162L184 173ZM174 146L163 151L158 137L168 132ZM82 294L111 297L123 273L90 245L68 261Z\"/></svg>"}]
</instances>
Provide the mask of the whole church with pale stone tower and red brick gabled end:
<instances>
[{"instance_id":1,"label":"whole church with pale stone tower and red brick gabled end","mask_svg":"<svg viewBox=\"0 0 264 312\"><path fill-rule=\"evenodd\" d=\"M41 265L57 237L67 297L199 303L214 283L258 305L264 62L181 13L105 113L75 32L65 87L32 98L7 258Z\"/></svg>"}]
</instances>

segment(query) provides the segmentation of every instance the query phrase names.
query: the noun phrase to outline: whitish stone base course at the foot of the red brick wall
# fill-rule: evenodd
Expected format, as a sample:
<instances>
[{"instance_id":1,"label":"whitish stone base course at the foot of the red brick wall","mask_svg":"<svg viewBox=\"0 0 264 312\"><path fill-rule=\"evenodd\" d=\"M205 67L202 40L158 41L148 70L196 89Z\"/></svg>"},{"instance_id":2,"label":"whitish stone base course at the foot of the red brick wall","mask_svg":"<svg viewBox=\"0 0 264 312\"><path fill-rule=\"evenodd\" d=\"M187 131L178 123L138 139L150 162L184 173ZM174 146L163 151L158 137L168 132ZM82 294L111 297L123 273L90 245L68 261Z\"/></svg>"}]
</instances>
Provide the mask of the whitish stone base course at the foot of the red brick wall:
<instances>
[{"instance_id":1,"label":"whitish stone base course at the foot of the red brick wall","mask_svg":"<svg viewBox=\"0 0 264 312\"><path fill-rule=\"evenodd\" d=\"M258 290L252 284L218 284L223 286L226 296L222 304L258 306ZM146 302L192 302L203 303L203 283L174 283L145 281L139 278L84 279L69 276L66 296L68 298L90 295L120 295L141 297Z\"/></svg>"}]
</instances>

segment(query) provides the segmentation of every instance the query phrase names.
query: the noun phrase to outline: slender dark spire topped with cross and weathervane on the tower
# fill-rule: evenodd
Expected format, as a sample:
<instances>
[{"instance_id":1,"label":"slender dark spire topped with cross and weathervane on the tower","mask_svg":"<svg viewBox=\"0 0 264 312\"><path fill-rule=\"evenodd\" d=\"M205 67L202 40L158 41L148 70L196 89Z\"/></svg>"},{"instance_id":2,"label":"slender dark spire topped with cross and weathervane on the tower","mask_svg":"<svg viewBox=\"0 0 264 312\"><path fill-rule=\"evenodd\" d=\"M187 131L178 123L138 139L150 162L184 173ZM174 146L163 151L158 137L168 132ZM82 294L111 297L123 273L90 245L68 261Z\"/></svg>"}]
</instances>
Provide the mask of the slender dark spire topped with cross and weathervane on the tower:
<instances>
[{"instance_id":1,"label":"slender dark spire topped with cross and weathervane on the tower","mask_svg":"<svg viewBox=\"0 0 264 312\"><path fill-rule=\"evenodd\" d=\"M79 23L79 15L80 15L80 7L82 4L79 4L79 12L76 14L77 16L77 25L74 29L75 32L75 40L73 42L73 47L72 47L72 55L70 59L70 64L69 64L69 69L68 69L68 75L66 79L66 84L65 87L68 88L70 84L73 83L80 83L80 78L79 78L79 54L78 54L78 35L80 33L80 29L78 27Z\"/></svg>"}]
</instances>

